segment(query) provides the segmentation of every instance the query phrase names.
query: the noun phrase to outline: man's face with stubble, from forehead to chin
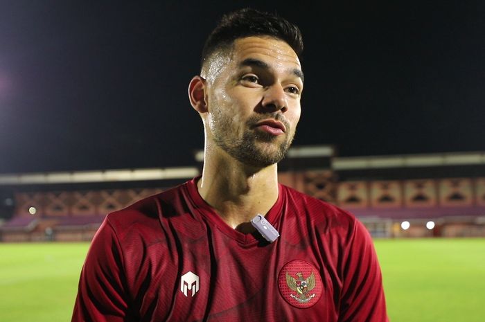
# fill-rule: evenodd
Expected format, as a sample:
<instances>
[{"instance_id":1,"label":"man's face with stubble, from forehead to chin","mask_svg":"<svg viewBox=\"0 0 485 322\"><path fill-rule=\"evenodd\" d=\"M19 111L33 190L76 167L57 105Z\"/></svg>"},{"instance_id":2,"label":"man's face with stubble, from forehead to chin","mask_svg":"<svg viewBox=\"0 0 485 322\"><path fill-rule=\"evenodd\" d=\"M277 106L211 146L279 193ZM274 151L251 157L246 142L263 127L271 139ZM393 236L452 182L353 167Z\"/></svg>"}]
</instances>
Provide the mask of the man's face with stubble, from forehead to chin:
<instances>
[{"instance_id":1,"label":"man's face with stubble, from forehead to chin","mask_svg":"<svg viewBox=\"0 0 485 322\"><path fill-rule=\"evenodd\" d=\"M303 73L285 42L268 37L236 39L214 57L207 75L209 138L250 166L279 162L300 118Z\"/></svg>"}]
</instances>

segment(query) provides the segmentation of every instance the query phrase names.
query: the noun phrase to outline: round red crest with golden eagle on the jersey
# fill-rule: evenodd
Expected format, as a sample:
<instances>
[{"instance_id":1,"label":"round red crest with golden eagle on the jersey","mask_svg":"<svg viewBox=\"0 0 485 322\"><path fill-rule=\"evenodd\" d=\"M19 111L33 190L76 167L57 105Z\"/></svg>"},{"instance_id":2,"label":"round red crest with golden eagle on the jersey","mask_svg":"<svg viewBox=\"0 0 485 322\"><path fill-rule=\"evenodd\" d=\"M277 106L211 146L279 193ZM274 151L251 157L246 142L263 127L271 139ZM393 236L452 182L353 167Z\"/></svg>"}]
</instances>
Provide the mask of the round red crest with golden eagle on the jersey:
<instances>
[{"instance_id":1,"label":"round red crest with golden eagle on the jersey","mask_svg":"<svg viewBox=\"0 0 485 322\"><path fill-rule=\"evenodd\" d=\"M320 275L310 263L303 260L288 262L279 273L281 296L295 307L311 307L322 292Z\"/></svg>"}]
</instances>

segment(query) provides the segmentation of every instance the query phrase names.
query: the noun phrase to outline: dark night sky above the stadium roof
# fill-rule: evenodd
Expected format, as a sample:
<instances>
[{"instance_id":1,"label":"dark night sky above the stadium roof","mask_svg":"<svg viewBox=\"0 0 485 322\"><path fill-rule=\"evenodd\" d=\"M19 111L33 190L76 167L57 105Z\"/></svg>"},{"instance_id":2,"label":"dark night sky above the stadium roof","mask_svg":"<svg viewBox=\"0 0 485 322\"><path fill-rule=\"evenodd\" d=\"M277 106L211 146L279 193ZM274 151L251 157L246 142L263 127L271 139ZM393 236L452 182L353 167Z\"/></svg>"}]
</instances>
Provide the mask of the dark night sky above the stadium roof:
<instances>
[{"instance_id":1,"label":"dark night sky above the stadium roof","mask_svg":"<svg viewBox=\"0 0 485 322\"><path fill-rule=\"evenodd\" d=\"M302 30L294 145L485 151L484 1L135 2L0 1L0 173L193 164L188 82L243 6Z\"/></svg>"}]
</instances>

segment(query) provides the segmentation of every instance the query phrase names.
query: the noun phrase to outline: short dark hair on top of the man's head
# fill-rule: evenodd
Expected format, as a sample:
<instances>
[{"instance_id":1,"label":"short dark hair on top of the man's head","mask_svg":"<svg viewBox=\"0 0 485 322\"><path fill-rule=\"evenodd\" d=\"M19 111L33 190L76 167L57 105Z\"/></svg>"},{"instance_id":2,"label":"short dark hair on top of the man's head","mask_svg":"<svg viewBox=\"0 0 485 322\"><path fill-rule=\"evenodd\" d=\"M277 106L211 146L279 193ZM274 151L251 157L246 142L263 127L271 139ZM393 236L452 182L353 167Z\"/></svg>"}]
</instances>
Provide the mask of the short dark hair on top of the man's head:
<instances>
[{"instance_id":1,"label":"short dark hair on top of the man's head","mask_svg":"<svg viewBox=\"0 0 485 322\"><path fill-rule=\"evenodd\" d=\"M218 49L231 46L234 40L251 36L267 36L283 40L300 57L303 52L303 38L300 29L290 21L270 12L244 8L222 16L218 26L207 38L200 61L205 60Z\"/></svg>"}]
</instances>

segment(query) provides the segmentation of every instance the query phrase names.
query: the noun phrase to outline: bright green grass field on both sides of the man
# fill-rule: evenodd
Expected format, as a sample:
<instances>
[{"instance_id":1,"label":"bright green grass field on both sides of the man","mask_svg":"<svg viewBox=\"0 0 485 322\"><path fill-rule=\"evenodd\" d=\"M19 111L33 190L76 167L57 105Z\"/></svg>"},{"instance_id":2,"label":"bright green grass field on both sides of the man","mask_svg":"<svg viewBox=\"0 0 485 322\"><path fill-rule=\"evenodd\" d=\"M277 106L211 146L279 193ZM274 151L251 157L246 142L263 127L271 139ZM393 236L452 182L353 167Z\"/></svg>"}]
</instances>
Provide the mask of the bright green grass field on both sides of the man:
<instances>
[{"instance_id":1,"label":"bright green grass field on both sides of the man","mask_svg":"<svg viewBox=\"0 0 485 322\"><path fill-rule=\"evenodd\" d=\"M0 244L0 321L70 321L88 244ZM485 321L485 239L376 240L392 322Z\"/></svg>"}]
</instances>

